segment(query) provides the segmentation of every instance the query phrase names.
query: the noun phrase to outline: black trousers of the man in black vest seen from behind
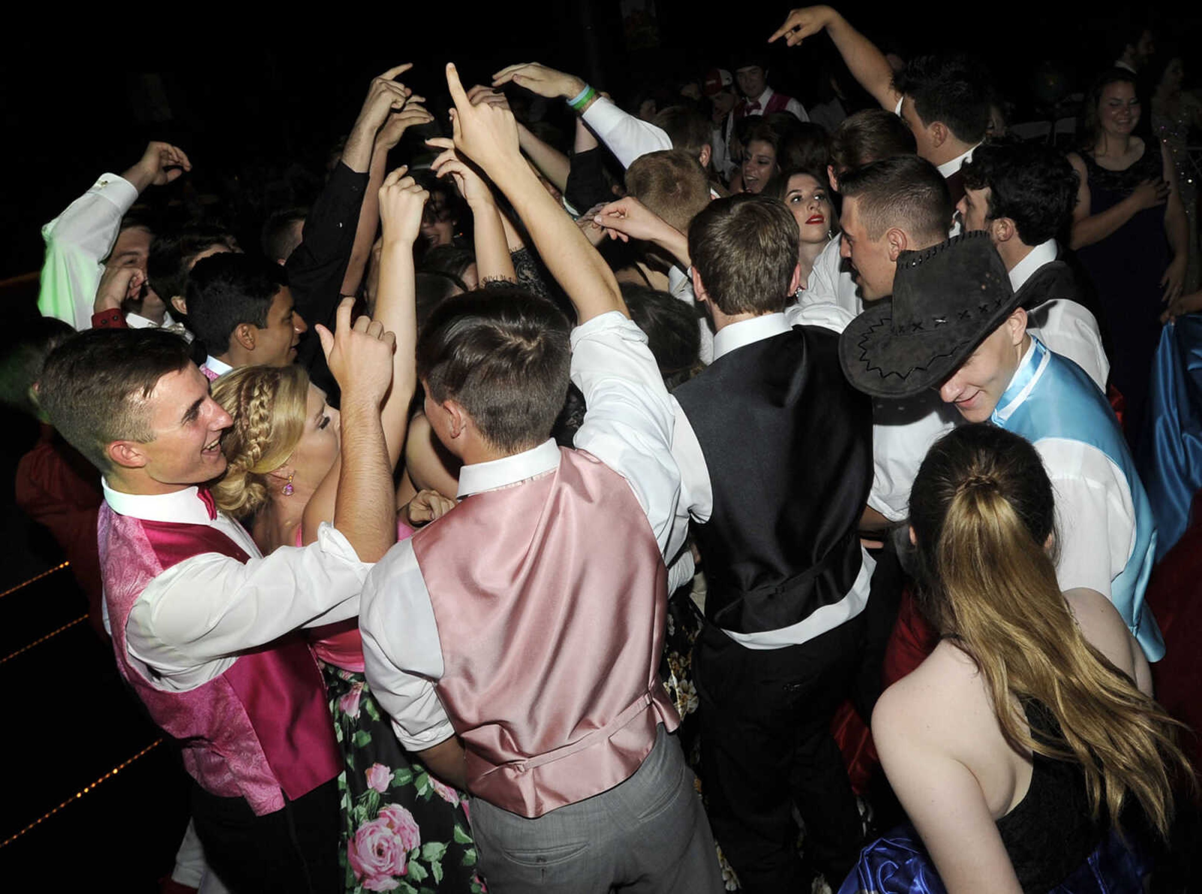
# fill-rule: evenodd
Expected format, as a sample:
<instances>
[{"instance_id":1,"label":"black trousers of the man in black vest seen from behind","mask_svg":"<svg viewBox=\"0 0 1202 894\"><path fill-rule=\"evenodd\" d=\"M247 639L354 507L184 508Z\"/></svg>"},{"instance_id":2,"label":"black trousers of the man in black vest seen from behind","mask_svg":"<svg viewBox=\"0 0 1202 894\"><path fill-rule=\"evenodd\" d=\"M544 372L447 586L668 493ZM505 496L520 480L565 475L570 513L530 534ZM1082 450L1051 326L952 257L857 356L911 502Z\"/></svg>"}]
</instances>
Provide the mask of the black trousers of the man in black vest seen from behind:
<instances>
[{"instance_id":1,"label":"black trousers of the man in black vest seen from behind","mask_svg":"<svg viewBox=\"0 0 1202 894\"><path fill-rule=\"evenodd\" d=\"M831 719L859 668L863 627L861 615L784 649L748 649L712 624L697 638L703 791L748 894L808 892L815 871L838 888L858 857L859 811Z\"/></svg>"}]
</instances>

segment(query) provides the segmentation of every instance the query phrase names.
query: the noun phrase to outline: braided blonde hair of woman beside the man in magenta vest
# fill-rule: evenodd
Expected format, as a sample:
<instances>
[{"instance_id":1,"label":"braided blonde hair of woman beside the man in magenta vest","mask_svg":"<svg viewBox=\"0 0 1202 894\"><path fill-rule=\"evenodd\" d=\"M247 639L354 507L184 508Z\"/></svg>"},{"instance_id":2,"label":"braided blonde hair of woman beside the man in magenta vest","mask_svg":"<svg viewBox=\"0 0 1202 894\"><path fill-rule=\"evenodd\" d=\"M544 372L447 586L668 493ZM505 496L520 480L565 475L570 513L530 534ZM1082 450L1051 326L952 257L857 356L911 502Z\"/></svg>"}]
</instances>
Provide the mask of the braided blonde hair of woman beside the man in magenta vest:
<instances>
[{"instance_id":1,"label":"braided blonde hair of woman beside the man in magenta vest","mask_svg":"<svg viewBox=\"0 0 1202 894\"><path fill-rule=\"evenodd\" d=\"M248 518L267 503L268 476L300 441L309 376L296 365L242 366L213 383L213 399L233 417L221 437L227 466L213 499L234 518Z\"/></svg>"}]
</instances>

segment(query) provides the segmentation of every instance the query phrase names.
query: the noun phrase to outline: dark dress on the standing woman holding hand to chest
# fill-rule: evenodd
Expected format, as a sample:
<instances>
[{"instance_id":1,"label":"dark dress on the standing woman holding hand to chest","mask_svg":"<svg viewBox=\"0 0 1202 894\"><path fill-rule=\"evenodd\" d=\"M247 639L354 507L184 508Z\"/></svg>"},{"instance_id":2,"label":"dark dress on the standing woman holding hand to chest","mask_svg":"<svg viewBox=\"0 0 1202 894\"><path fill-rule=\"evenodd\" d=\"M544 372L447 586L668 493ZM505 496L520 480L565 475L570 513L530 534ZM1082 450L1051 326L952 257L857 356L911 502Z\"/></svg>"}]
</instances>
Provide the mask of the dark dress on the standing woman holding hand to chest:
<instances>
[{"instance_id":1,"label":"dark dress on the standing woman holding hand to chest","mask_svg":"<svg viewBox=\"0 0 1202 894\"><path fill-rule=\"evenodd\" d=\"M1131 195L1144 180L1164 177L1160 144L1149 141L1125 171L1108 171L1082 153L1089 185L1089 213L1100 214ZM1146 208L1105 239L1077 250L1097 290L1113 341L1111 382L1125 400L1124 429L1136 443L1143 425L1152 359L1160 342L1164 310L1160 285L1171 257L1165 205Z\"/></svg>"}]
</instances>

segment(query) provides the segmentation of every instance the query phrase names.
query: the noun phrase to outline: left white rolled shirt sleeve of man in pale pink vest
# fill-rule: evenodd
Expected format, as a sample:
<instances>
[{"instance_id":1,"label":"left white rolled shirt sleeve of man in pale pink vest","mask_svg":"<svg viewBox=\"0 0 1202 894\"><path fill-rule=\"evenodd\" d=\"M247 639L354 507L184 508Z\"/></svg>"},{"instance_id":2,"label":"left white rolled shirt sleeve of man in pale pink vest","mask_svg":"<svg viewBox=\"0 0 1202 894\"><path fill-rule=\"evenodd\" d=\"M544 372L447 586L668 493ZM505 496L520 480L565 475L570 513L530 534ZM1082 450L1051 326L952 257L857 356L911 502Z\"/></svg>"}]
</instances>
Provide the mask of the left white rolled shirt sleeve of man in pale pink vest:
<instances>
[{"instance_id":1,"label":"left white rolled shirt sleeve of man in pale pink vest","mask_svg":"<svg viewBox=\"0 0 1202 894\"><path fill-rule=\"evenodd\" d=\"M434 689L442 677L442 646L426 579L411 541L385 555L363 585L359 631L371 692L410 751L454 735Z\"/></svg>"}]
</instances>

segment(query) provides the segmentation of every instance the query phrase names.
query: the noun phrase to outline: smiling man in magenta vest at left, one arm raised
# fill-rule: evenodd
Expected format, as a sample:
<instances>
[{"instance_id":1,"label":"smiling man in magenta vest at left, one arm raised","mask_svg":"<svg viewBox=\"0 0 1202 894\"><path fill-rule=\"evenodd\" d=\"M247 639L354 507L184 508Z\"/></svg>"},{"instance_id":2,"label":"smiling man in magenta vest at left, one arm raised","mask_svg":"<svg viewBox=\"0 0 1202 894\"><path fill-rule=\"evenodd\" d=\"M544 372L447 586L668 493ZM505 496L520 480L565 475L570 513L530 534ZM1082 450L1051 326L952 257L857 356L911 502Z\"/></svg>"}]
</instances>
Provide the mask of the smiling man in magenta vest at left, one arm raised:
<instances>
[{"instance_id":1,"label":"smiling man in magenta vest at left, one arm raised","mask_svg":"<svg viewBox=\"0 0 1202 894\"><path fill-rule=\"evenodd\" d=\"M343 387L334 525L261 556L202 485L225 471L230 416L188 344L93 329L47 359L38 399L103 478L100 562L118 668L179 740L209 866L233 892L339 888L341 757L321 673L294 631L353 616L367 566L395 540L380 401L394 339L321 330ZM369 328L370 323L370 328Z\"/></svg>"}]
</instances>

